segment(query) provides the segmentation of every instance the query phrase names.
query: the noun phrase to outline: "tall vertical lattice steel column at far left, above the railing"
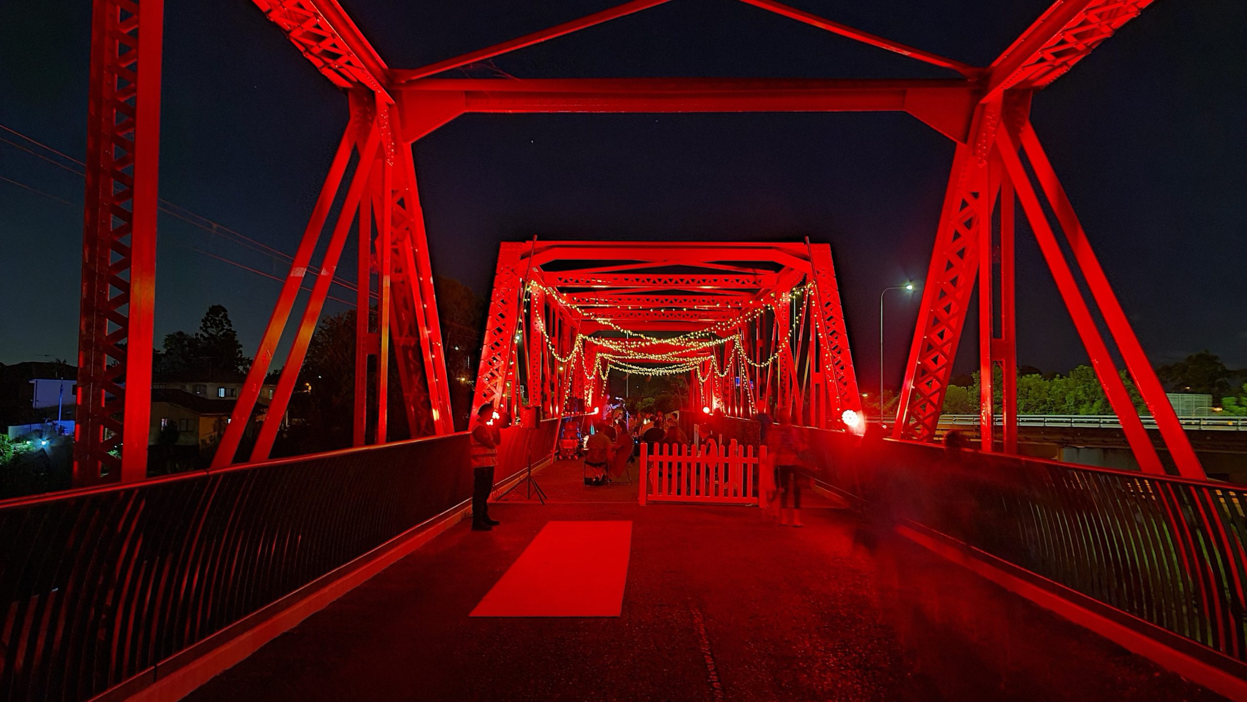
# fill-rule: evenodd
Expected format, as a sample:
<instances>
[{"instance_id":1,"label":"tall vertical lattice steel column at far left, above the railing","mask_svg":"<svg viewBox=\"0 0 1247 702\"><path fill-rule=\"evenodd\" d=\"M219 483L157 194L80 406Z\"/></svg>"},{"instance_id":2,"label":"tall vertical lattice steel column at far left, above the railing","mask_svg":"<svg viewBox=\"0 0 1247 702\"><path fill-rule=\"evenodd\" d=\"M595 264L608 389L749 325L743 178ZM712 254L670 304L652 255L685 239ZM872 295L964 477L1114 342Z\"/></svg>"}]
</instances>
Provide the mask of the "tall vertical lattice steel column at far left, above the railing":
<instances>
[{"instance_id":1,"label":"tall vertical lattice steel column at far left, above the railing","mask_svg":"<svg viewBox=\"0 0 1247 702\"><path fill-rule=\"evenodd\" d=\"M92 5L75 485L147 476L163 11Z\"/></svg>"}]
</instances>

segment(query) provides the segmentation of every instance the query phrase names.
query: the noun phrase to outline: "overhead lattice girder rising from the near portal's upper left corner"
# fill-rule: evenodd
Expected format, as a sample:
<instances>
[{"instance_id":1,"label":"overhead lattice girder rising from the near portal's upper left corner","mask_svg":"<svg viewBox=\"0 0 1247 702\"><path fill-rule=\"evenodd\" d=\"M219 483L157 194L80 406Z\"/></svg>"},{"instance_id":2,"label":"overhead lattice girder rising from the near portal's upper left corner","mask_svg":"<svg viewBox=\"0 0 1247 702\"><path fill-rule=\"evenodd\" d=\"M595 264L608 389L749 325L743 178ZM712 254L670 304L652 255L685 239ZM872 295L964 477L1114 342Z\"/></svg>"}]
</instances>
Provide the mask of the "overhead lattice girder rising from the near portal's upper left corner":
<instances>
[{"instance_id":1,"label":"overhead lattice girder rising from the near portal's upper left corner","mask_svg":"<svg viewBox=\"0 0 1247 702\"><path fill-rule=\"evenodd\" d=\"M385 62L337 0L253 0L299 52L338 87L368 87L385 102Z\"/></svg>"}]
</instances>

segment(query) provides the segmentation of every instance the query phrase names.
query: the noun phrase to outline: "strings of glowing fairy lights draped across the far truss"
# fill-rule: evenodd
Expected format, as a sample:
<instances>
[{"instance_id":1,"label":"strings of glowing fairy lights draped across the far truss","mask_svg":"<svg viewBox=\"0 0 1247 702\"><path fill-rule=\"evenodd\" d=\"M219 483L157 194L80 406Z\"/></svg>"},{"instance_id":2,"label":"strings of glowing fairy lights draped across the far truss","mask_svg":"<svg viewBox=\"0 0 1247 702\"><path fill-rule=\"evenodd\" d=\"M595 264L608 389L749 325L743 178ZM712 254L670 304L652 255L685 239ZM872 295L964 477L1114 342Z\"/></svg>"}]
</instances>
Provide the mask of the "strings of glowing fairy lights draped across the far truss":
<instances>
[{"instance_id":1,"label":"strings of glowing fairy lights draped across the far truss","mask_svg":"<svg viewBox=\"0 0 1247 702\"><path fill-rule=\"evenodd\" d=\"M666 338L651 337L648 334L621 327L612 319L599 317L594 314L590 308L576 304L557 289L539 281L529 281L525 292L530 294L542 293L549 296L559 304L577 312L582 318L624 334L624 338L620 339L592 337L577 333L572 339L571 349L566 354L560 354L559 344L550 337L550 333L546 329L544 315L536 315L534 319L534 325L542 335L546 349L559 364L562 367L574 367L579 357L585 378L585 383L582 385L585 401L587 404L591 401L591 384L595 375L600 377L605 383L610 377L611 370L646 377L681 375L692 372L696 373L698 383L706 383L706 380L712 375L717 378L726 378L736 369L739 369L742 374L747 374L747 367L752 367L758 370L769 368L788 348L788 338L781 338L774 353L772 353L767 359L753 360L747 353L743 353L744 337L741 330L749 322L753 322L764 314L768 309L776 310L779 304L789 304L793 299L799 298L813 288L814 282L809 281L788 292L773 294L768 299L746 302L742 307L742 314L737 317L721 319L702 329ZM707 304L700 307L722 308L725 305L723 303L715 303L712 305ZM610 353L600 352L594 355L594 360L590 363L589 354L585 350L587 343L597 344L605 349L605 352ZM728 343L731 343L731 345L727 348L727 358L725 359L722 367L720 367L718 355L715 353L715 349ZM658 350L655 347L676 348L671 348L670 350ZM665 363L665 365L641 365L640 363ZM565 397L571 393L571 380L572 374L567 373L564 378ZM754 397L752 383L744 383L744 387L749 397L749 403L756 404L757 398Z\"/></svg>"}]
</instances>

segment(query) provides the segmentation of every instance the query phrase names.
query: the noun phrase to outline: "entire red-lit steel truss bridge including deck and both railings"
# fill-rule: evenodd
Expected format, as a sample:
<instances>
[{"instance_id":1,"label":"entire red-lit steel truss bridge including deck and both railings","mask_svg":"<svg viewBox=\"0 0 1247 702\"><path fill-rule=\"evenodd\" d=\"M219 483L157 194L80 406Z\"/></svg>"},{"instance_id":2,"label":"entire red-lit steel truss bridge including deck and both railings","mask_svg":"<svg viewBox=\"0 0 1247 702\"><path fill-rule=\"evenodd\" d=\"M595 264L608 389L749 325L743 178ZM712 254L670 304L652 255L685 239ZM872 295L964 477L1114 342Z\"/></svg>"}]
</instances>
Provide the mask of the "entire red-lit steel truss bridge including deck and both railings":
<instances>
[{"instance_id":1,"label":"entire red-lit steel truss bridge including deck and both railings","mask_svg":"<svg viewBox=\"0 0 1247 702\"><path fill-rule=\"evenodd\" d=\"M165 4L94 0L75 489L0 501L0 697L178 698L234 663L237 670L219 678L232 682L211 683L201 691L205 698L237 698L243 686L276 698L301 685L301 698L384 697L393 695L392 682L410 685L402 688L404 698L414 690L430 698L534 697L541 688L518 688L530 678L510 675L519 658L499 652L522 648L532 660L557 663L546 668L554 675L569 668L571 643L601 643L611 666L594 670L619 686L602 692L580 680L590 686L571 688L580 698L726 698L725 691L773 698L778 690L759 687L751 697L742 687L749 676L739 671L757 673L761 668L749 666L758 660L802 661L807 667L786 680L814 685L801 692L808 698L835 697L840 683L865 697L870 686L877 698L938 697L934 688L903 695L903 686L879 687L875 672L893 670L888 661L899 661L895 681L927 678L904 672L899 643L872 646L913 635L920 628L914 621L934 617L943 626L956 618L953 612L980 633L1005 630L1005 648L1023 647L1009 671L1050 661L1049 673L1067 673L1079 692L1064 698L1095 698L1095 691L1105 692L1095 686L1107 681L1131 698L1247 700L1247 494L1206 479L1092 249L1094 232L1084 229L1057 176L1076 165L1050 162L1030 121L1042 89L1152 0L1056 0L986 66L777 0L742 0L759 12L935 66L946 72L939 80L445 77L666 1L631 0L426 66L394 67L338 0L253 0L273 24L273 50L292 50L281 45L283 35L340 89L349 120L211 468L148 478ZM722 426L743 443L757 440L754 413L788 409L813 448L813 485L837 509L824 502L824 516L808 517L809 529L792 539L793 531L759 536L756 512L743 521L746 507L697 507L706 521L695 524L680 516L693 507L670 505L503 504L498 514L506 526L527 536L508 541L499 536L504 526L493 535L498 541L473 540L476 535L455 526L470 495L469 440L453 421L413 143L468 113L838 111L904 112L955 147L889 436L875 428L860 435L864 416L833 252L804 241L504 243L471 408L494 401L518 419L499 450L501 488L534 455L547 455L562 420L594 416L612 374L683 375L690 406L726 415ZM1036 238L1137 471L1018 453L1019 217ZM348 246L359 262L354 365L344 369L354 378L353 446L273 459ZM309 273L311 296L296 309ZM984 379L981 444L944 450L933 444L970 314L978 315ZM390 364L402 384L400 406L387 401ZM996 367L1004 372L1003 411L993 404ZM276 390L261 408L262 387L274 372ZM1124 374L1142 395L1146 425ZM412 439L389 440L398 416ZM549 470L556 480L559 464ZM579 481L579 473L574 478ZM636 524L633 580L620 615L632 633L619 633L609 621L594 635L561 622L541 628L554 632L549 636L519 627L490 638L503 625L465 623L471 605L540 524L602 519L604 510L614 515L606 519ZM698 525L713 527L698 531ZM407 557L445 530L431 552ZM880 565L884 546L875 546L888 539L918 550L897 551L900 570ZM835 565L827 566L827 557ZM993 585L965 585L948 569ZM905 587L939 585L939 592L919 592L919 603L939 603L950 592L955 601L887 633L869 615L875 590L863 585L867 570L900 574ZM720 597L727 591L731 597ZM766 596L739 599L751 592ZM330 605L339 596L340 606ZM1006 599L1013 603L1003 603ZM687 606L672 606L676 601ZM751 608L762 601L779 610ZM824 605L829 608L818 608ZM1018 610L1036 605L1042 610ZM767 648L777 638L756 627L801 607L813 607L808 621L842 626L812 633L792 621L788 631L804 642L801 651ZM322 608L302 630L320 641L311 651L299 648L299 637L272 641ZM990 618L975 618L984 612ZM1052 612L1082 628L1041 626ZM840 630L849 637L821 638ZM622 638L610 638L612 631ZM630 638L638 631L647 638ZM421 633L449 643L404 648ZM475 638L466 641L469 633ZM621 648L627 645L633 648ZM627 653L642 648L663 657L633 667ZM922 645L919 657L934 656L927 671L955 670L939 655L969 648L941 635ZM329 650L357 667L334 665ZM456 656L439 658L445 651ZM823 651L835 652L839 673L828 672ZM870 655L858 660L855 651ZM464 670L465 661L485 661L489 670ZM688 661L696 666L681 667ZM656 678L646 675L660 668L675 671L671 687L653 687ZM413 670L421 676L415 682L403 677ZM506 677L490 677L495 670ZM837 675L845 671L860 675L844 682ZM459 673L464 677L446 677ZM1047 685L1062 676L1025 680ZM681 680L696 685L680 687ZM818 687L819 680L829 687ZM266 687L277 683L296 687ZM991 690L999 697L1006 685ZM566 686L550 690L550 698L569 695ZM1009 698L1045 690L1019 688L1020 697Z\"/></svg>"}]
</instances>

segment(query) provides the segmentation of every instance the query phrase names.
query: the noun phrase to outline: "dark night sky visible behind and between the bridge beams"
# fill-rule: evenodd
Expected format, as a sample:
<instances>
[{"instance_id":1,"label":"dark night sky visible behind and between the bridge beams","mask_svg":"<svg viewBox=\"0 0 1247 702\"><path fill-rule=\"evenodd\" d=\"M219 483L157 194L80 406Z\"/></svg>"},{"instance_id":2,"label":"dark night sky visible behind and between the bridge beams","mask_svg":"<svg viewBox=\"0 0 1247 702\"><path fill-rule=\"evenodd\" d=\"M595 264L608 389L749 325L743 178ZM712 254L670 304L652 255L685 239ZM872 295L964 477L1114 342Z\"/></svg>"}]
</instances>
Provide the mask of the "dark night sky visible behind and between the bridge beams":
<instances>
[{"instance_id":1,"label":"dark night sky visible behind and between the bridge beams","mask_svg":"<svg viewBox=\"0 0 1247 702\"><path fill-rule=\"evenodd\" d=\"M390 66L416 67L616 1L342 4ZM1047 0L792 4L986 65ZM293 253L344 96L252 2L166 5L161 196ZM87 0L0 4L0 125L82 158L89 35ZM1035 97L1036 131L1155 363L1208 348L1247 367L1245 47L1241 0L1158 0ZM956 77L731 0L673 0L494 64L518 77ZM829 242L865 387L879 291L925 274L951 156L903 113L475 115L415 146L434 269L483 296L498 242L532 234ZM4 142L0 177L52 196L0 181L0 362L72 363L82 180ZM279 283L208 254L278 277L288 264L170 216L160 227L157 340L221 303L253 353ZM1019 229L1019 363L1066 370L1086 355ZM347 256L339 274L353 272ZM917 301L889 293L889 384ZM973 314L966 334L961 370L976 363Z\"/></svg>"}]
</instances>

